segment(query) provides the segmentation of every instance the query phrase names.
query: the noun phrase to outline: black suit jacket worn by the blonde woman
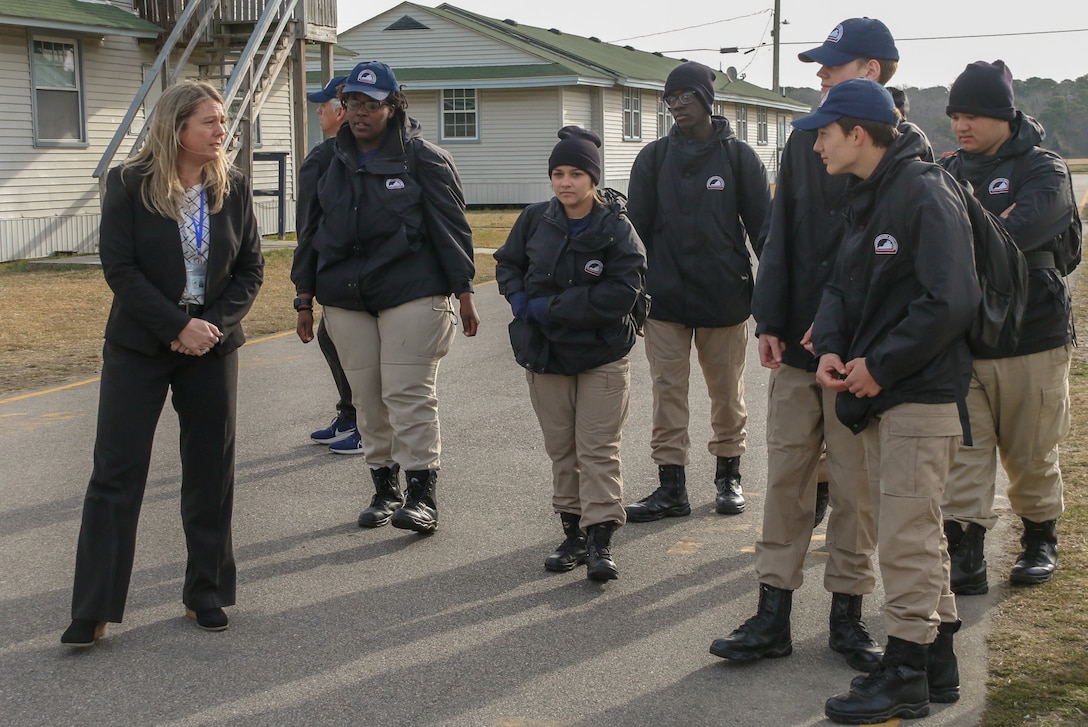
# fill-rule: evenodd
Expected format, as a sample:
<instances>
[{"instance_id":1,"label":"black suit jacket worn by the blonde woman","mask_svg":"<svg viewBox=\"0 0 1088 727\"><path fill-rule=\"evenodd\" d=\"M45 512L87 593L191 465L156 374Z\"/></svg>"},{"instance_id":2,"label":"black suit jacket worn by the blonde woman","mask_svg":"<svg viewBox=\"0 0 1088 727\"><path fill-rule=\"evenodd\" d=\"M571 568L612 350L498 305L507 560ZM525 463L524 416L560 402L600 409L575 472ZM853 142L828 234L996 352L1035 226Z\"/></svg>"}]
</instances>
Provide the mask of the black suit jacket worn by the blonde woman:
<instances>
[{"instance_id":1,"label":"black suit jacket worn by the blonde woman","mask_svg":"<svg viewBox=\"0 0 1088 727\"><path fill-rule=\"evenodd\" d=\"M153 356L170 347L190 317L177 307L185 291L185 259L177 222L140 201L145 176L136 169L110 170L102 205L99 256L113 306L106 338ZM248 181L232 173L223 209L209 215L205 311L223 341L219 356L245 343L242 319L254 305L264 275L260 235Z\"/></svg>"}]
</instances>

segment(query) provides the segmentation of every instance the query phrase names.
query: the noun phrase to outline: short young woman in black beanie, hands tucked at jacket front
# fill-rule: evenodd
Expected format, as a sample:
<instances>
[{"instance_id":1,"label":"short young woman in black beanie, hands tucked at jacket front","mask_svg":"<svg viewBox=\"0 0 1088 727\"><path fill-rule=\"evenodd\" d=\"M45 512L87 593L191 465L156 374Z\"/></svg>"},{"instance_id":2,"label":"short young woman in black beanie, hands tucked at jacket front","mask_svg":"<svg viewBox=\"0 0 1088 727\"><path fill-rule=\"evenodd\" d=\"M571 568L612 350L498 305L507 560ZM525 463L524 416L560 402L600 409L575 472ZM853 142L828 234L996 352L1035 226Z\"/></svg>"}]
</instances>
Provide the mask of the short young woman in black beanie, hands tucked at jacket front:
<instances>
[{"instance_id":1,"label":"short young woman in black beanie, hands tucked at jacket front","mask_svg":"<svg viewBox=\"0 0 1088 727\"><path fill-rule=\"evenodd\" d=\"M619 446L646 255L614 193L597 192L599 137L565 126L559 139L548 159L556 196L524 209L495 251L495 276L514 311L510 345L527 369L566 535L544 567L588 559L590 578L610 580L619 575L611 532L626 521Z\"/></svg>"}]
</instances>

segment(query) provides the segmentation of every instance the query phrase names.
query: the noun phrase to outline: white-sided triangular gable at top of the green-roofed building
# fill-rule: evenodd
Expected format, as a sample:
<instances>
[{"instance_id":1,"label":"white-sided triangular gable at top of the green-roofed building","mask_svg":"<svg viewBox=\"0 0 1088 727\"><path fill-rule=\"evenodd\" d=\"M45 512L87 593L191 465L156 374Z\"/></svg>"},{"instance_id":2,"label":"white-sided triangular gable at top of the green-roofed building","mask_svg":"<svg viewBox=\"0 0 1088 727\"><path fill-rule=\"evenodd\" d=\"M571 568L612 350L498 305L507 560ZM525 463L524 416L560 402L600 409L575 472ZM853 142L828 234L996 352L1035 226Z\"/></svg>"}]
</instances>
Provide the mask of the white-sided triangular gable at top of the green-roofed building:
<instances>
[{"instance_id":1,"label":"white-sided triangular gable at top of the green-roofed building","mask_svg":"<svg viewBox=\"0 0 1088 727\"><path fill-rule=\"evenodd\" d=\"M426 30L386 30L409 15ZM396 71L403 67L455 67L463 65L520 65L543 61L489 36L474 33L408 3L378 15L336 38L336 45L359 53L358 60L379 60Z\"/></svg>"}]
</instances>

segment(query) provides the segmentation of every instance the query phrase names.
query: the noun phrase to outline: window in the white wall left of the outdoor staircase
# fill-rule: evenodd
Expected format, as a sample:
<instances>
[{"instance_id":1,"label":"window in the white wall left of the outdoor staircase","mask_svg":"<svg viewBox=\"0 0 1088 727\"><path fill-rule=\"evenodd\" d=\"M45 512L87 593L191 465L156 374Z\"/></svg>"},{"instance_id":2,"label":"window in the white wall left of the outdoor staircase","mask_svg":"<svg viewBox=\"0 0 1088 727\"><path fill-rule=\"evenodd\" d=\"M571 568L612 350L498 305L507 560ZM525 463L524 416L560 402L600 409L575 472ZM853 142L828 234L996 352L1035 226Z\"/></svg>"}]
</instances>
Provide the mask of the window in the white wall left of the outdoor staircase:
<instances>
[{"instance_id":1,"label":"window in the white wall left of the outdoor staircase","mask_svg":"<svg viewBox=\"0 0 1088 727\"><path fill-rule=\"evenodd\" d=\"M79 41L74 38L30 38L35 145L87 143L82 63Z\"/></svg>"}]
</instances>

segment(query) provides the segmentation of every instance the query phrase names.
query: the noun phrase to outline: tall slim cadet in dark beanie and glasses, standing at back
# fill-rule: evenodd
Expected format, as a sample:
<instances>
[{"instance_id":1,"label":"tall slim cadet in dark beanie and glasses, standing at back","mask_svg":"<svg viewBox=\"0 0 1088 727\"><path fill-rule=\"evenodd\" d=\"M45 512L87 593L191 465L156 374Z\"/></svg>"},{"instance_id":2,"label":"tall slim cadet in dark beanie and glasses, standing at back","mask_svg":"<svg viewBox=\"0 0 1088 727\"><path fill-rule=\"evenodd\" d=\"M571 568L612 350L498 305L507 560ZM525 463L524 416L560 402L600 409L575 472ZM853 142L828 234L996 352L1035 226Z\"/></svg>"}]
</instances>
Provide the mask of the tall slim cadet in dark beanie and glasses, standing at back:
<instances>
[{"instance_id":1,"label":"tall slim cadet in dark beanie and glasses, standing at back","mask_svg":"<svg viewBox=\"0 0 1088 727\"><path fill-rule=\"evenodd\" d=\"M646 246L646 285L654 305L646 322L646 358L654 385L651 455L659 486L627 507L646 522L691 514L687 475L692 342L710 396L710 454L716 458L715 507L744 509L741 455L744 353L752 299L752 263L770 206L767 170L729 122L713 116L714 72L681 63L665 82L676 122L648 144L631 169L631 222Z\"/></svg>"}]
</instances>

